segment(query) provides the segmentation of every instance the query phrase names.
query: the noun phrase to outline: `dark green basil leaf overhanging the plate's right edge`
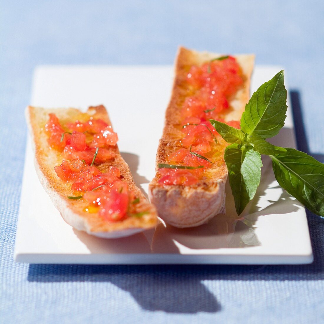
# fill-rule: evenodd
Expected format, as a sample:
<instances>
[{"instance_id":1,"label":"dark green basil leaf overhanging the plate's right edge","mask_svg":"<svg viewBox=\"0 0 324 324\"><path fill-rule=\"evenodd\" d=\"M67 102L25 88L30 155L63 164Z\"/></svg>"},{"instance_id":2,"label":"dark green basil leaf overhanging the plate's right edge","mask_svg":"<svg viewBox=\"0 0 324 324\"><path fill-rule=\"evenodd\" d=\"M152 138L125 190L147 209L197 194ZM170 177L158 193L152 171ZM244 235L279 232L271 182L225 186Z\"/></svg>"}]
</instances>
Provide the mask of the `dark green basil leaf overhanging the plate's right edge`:
<instances>
[{"instance_id":1,"label":"dark green basil leaf overhanging the plate's right edge","mask_svg":"<svg viewBox=\"0 0 324 324\"><path fill-rule=\"evenodd\" d=\"M270 156L278 183L311 212L324 216L324 164L304 152L286 150Z\"/></svg>"}]
</instances>

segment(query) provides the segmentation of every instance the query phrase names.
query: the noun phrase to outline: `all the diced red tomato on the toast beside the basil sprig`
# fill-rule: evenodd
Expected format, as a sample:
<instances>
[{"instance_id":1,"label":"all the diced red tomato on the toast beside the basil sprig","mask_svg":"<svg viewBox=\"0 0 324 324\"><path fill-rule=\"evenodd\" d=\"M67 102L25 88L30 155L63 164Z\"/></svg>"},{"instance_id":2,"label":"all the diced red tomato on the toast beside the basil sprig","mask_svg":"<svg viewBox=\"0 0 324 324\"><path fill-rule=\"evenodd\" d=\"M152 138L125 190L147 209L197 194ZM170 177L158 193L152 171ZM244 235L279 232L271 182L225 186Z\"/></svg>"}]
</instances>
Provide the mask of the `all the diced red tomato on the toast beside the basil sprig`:
<instances>
[{"instance_id":1,"label":"all the diced red tomato on the toast beside the basil sprig","mask_svg":"<svg viewBox=\"0 0 324 324\"><path fill-rule=\"evenodd\" d=\"M236 59L228 56L201 66L191 66L186 81L191 85L193 94L184 98L180 111L183 133L180 143L184 148L169 154L168 160L182 166L204 168L161 168L158 171L158 182L162 185L196 183L201 179L204 169L212 165L206 160L205 154L213 150L213 146L218 143L216 136L220 136L209 119L220 120L221 114L229 108L228 101L243 84L243 77ZM227 124L239 128L237 121L229 121ZM191 152L188 148L191 148Z\"/></svg>"}]
</instances>

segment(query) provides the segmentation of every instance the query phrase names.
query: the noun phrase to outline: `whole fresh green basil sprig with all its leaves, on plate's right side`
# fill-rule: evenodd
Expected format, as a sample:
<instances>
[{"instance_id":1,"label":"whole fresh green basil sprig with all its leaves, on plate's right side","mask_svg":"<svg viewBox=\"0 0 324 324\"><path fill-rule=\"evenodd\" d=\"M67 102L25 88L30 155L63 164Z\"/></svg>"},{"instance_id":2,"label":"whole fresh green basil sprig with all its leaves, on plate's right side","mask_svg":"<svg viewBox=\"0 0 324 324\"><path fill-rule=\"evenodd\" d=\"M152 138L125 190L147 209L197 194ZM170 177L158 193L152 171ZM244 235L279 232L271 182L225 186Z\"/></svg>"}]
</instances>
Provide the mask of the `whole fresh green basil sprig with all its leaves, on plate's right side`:
<instances>
[{"instance_id":1,"label":"whole fresh green basil sprig with all its leaves, on plate's right side","mask_svg":"<svg viewBox=\"0 0 324 324\"><path fill-rule=\"evenodd\" d=\"M294 148L283 148L265 139L275 136L284 126L287 111L284 71L265 82L253 93L238 130L210 120L216 131L231 145L224 159L237 214L253 199L261 179L261 154L272 159L279 185L310 211L324 216L324 164Z\"/></svg>"}]
</instances>

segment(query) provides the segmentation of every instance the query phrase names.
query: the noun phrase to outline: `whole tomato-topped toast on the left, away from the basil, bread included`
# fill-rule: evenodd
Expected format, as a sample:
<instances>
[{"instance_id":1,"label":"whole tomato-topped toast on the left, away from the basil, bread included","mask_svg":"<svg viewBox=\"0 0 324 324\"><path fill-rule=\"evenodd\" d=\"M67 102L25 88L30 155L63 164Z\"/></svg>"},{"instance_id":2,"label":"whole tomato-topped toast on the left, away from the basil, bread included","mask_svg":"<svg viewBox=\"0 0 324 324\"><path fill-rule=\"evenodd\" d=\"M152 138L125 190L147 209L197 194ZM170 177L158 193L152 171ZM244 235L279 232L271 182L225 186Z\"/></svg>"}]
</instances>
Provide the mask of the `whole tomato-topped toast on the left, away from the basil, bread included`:
<instances>
[{"instance_id":1,"label":"whole tomato-topped toast on the left, away from the basil, bread included","mask_svg":"<svg viewBox=\"0 0 324 324\"><path fill-rule=\"evenodd\" d=\"M105 238L156 225L155 207L136 187L104 106L80 110L27 107L35 167L64 220Z\"/></svg>"}]
</instances>

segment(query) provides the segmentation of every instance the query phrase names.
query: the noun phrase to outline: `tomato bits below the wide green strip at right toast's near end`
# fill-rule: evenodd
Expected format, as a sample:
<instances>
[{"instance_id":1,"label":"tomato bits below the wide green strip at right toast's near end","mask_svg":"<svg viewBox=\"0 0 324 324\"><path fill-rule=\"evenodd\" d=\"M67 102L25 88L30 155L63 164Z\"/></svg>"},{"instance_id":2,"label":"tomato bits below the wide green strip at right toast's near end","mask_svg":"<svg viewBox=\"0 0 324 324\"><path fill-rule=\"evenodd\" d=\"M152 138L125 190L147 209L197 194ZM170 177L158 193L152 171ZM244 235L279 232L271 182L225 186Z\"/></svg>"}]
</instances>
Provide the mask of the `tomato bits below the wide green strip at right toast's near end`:
<instances>
[{"instance_id":1,"label":"tomato bits below the wide green strip at right toast's near end","mask_svg":"<svg viewBox=\"0 0 324 324\"><path fill-rule=\"evenodd\" d=\"M198 178L185 169L159 169L161 178L158 183L161 185L191 186L198 182Z\"/></svg>"}]
</instances>

